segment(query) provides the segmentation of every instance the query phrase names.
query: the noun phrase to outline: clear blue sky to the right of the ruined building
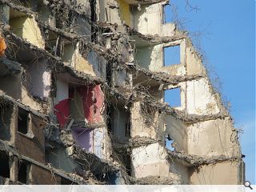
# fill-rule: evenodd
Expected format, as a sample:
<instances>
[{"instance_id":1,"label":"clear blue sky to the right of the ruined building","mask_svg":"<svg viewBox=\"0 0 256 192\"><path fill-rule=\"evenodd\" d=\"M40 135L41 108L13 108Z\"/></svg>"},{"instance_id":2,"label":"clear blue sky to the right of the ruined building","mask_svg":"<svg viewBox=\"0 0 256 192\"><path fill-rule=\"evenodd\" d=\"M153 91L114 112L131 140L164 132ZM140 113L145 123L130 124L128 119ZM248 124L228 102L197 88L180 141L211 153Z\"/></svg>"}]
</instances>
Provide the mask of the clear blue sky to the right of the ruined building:
<instances>
[{"instance_id":1,"label":"clear blue sky to the right of the ruined building","mask_svg":"<svg viewBox=\"0 0 256 192\"><path fill-rule=\"evenodd\" d=\"M177 14L166 9L166 20L178 18L189 31L195 46L203 50L205 64L240 134L246 155L246 180L255 182L255 1L254 0L171 0ZM178 17L177 17L178 15ZM184 30L183 29L183 30ZM215 80L214 80L215 81Z\"/></svg>"}]
</instances>

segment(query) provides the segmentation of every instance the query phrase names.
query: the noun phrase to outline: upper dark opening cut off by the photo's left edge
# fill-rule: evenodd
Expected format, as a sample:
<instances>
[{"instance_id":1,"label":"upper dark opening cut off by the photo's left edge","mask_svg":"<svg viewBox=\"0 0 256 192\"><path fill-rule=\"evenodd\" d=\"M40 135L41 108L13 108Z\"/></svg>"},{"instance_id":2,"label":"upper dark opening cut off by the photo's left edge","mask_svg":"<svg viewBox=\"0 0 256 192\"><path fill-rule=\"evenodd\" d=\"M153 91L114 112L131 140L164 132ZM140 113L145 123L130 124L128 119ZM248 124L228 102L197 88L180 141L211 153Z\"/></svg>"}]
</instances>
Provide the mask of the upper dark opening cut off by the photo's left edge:
<instances>
[{"instance_id":1,"label":"upper dark opening cut off by the photo's left edge","mask_svg":"<svg viewBox=\"0 0 256 192\"><path fill-rule=\"evenodd\" d=\"M10 120L13 114L13 106L0 104L0 139L10 141Z\"/></svg>"}]
</instances>

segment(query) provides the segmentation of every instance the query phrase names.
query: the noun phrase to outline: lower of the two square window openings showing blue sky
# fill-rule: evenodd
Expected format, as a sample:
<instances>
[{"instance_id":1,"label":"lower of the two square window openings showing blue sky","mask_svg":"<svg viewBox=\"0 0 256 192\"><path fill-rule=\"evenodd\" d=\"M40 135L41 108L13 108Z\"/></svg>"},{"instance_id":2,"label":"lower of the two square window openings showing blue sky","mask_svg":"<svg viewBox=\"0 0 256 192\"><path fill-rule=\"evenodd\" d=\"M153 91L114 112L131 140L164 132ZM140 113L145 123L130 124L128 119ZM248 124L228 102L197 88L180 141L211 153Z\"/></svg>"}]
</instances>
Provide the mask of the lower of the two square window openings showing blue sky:
<instances>
[{"instance_id":1,"label":"lower of the two square window openings showing blue sky","mask_svg":"<svg viewBox=\"0 0 256 192\"><path fill-rule=\"evenodd\" d=\"M178 87L171 90L165 90L165 102L168 102L169 105L173 107L182 106L181 89Z\"/></svg>"}]
</instances>

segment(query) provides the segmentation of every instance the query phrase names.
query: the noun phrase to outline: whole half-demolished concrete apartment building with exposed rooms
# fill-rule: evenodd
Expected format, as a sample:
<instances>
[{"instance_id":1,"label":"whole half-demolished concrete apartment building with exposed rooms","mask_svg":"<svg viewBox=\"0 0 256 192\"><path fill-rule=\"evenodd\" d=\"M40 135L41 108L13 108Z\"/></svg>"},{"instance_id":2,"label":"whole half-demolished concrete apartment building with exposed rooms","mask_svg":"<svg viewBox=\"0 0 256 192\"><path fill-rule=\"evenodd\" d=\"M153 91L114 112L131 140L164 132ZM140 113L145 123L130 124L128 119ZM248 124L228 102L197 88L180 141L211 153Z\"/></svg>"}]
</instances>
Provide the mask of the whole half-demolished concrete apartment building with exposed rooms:
<instances>
[{"instance_id":1,"label":"whole half-demolished concrete apartment building with exposed rooms","mask_svg":"<svg viewBox=\"0 0 256 192\"><path fill-rule=\"evenodd\" d=\"M0 0L0 183L243 183L238 130L168 3Z\"/></svg>"}]
</instances>

